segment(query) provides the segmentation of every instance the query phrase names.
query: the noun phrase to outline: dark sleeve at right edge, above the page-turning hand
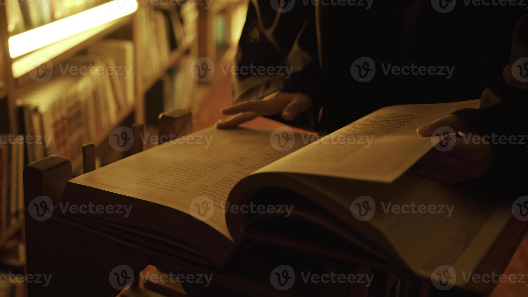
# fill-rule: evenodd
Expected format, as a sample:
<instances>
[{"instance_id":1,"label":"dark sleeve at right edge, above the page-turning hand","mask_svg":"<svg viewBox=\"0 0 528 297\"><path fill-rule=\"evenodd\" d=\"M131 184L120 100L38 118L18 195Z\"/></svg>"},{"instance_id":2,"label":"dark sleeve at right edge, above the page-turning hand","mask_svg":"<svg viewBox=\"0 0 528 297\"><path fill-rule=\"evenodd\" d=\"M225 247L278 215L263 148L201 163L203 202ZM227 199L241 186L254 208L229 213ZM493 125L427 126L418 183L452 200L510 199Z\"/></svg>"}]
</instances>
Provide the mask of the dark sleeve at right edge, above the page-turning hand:
<instances>
[{"instance_id":1,"label":"dark sleeve at right edge, above the page-turning hand","mask_svg":"<svg viewBox=\"0 0 528 297\"><path fill-rule=\"evenodd\" d=\"M511 63L504 68L504 81L488 86L480 109L454 112L480 135L494 139L492 147L498 164L488 177L521 190L528 188L528 58L523 58L527 56L528 15L525 15L515 27Z\"/></svg>"}]
</instances>

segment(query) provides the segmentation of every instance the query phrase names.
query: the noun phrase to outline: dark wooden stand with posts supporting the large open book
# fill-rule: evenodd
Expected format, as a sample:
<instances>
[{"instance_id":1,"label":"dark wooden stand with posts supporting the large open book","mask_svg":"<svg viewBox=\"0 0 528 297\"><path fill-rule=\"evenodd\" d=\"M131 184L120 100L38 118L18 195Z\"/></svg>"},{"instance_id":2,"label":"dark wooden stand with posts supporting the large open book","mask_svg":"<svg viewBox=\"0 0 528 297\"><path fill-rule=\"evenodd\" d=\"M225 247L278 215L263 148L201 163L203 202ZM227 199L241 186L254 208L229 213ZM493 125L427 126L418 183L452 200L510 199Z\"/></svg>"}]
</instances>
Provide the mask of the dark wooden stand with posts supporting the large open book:
<instances>
[{"instance_id":1,"label":"dark wooden stand with posts supporting the large open book","mask_svg":"<svg viewBox=\"0 0 528 297\"><path fill-rule=\"evenodd\" d=\"M190 114L182 111L163 113L160 117L160 137L185 135L192 131ZM182 128L183 127L183 128ZM142 125L134 127L137 133ZM140 141L140 137L135 137ZM135 143L134 152L143 150ZM84 172L95 169L95 147L83 147ZM67 158L50 156L33 162L24 170L25 233L27 246L27 273L51 275L48 286L29 283L30 296L116 296L120 285L132 283L133 289L124 296L162 296L137 290L138 274L149 264L165 272L182 274L212 274L212 283L182 283L189 296L360 296L360 297L425 297L425 296L477 296L453 290L438 291L430 280L418 279L406 271L399 271L366 260L349 252L329 258L319 251L297 251L287 247L263 245L264 257L241 255L236 263L214 270L203 258L175 246L150 241L145 237L98 224L57 210L67 180L72 177L71 162ZM48 200L42 196L49 197ZM50 209L46 209L46 207ZM507 245L501 255L490 254L482 260L483 271L496 267L503 271L526 231L524 222L512 222L501 235L501 244ZM197 235L198 236L198 235ZM270 272L277 264L295 262L299 267L321 272L374 274L372 288L360 284L304 284L291 290L280 291L270 283ZM126 269L116 270L121 265ZM300 279L300 275L297 276ZM487 285L491 292L494 284ZM137 293L139 292L139 293ZM171 295L170 290L164 295ZM136 294L137 293L137 294ZM182 293L173 292L174 296Z\"/></svg>"}]
</instances>

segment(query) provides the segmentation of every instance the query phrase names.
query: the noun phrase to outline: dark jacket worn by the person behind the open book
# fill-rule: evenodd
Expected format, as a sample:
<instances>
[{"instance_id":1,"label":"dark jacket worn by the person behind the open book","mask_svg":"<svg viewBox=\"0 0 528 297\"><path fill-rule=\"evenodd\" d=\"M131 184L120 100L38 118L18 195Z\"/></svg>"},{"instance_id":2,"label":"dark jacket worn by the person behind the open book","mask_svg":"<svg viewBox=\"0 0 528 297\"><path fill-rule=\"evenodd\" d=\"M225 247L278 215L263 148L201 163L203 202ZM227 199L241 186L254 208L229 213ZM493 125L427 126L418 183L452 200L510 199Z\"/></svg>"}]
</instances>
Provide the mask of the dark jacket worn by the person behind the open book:
<instances>
[{"instance_id":1,"label":"dark jacket worn by the person behind the open book","mask_svg":"<svg viewBox=\"0 0 528 297\"><path fill-rule=\"evenodd\" d=\"M275 1L285 9L277 9ZM457 111L457 116L481 135L528 135L528 83L512 76L512 67L517 69L512 63L528 56L527 7L458 1L452 11L441 13L433 7L435 1L374 0L366 9L358 1L314 5L311 0L252 0L237 65L293 66L294 74L288 79L239 74L234 102L277 90L305 93L314 107L289 124L326 133L385 106L482 96L481 109ZM375 64L375 75L367 82L351 74L362 57ZM434 66L437 72L443 68L444 75L385 74L389 65ZM517 184L528 183L528 170L518 168L528 166L526 145L494 148L503 174Z\"/></svg>"}]
</instances>

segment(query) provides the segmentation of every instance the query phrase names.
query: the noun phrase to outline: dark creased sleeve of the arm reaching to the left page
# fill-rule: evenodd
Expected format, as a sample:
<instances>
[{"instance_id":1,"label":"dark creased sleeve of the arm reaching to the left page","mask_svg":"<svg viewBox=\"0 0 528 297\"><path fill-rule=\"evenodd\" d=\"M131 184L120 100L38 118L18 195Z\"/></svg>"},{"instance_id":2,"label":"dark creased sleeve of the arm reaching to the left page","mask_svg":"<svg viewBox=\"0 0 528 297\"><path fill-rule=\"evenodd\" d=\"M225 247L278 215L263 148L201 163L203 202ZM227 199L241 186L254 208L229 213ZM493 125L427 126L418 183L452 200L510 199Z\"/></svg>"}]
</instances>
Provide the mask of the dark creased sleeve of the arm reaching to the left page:
<instances>
[{"instance_id":1,"label":"dark creased sleeve of the arm reaching to the left page","mask_svg":"<svg viewBox=\"0 0 528 297\"><path fill-rule=\"evenodd\" d=\"M309 129L316 121L323 85L314 6L287 10L277 12L269 0L250 1L235 58L239 71L233 75L233 103L259 100L279 90L306 94L314 106L288 124ZM259 67L266 73L258 73Z\"/></svg>"}]
</instances>

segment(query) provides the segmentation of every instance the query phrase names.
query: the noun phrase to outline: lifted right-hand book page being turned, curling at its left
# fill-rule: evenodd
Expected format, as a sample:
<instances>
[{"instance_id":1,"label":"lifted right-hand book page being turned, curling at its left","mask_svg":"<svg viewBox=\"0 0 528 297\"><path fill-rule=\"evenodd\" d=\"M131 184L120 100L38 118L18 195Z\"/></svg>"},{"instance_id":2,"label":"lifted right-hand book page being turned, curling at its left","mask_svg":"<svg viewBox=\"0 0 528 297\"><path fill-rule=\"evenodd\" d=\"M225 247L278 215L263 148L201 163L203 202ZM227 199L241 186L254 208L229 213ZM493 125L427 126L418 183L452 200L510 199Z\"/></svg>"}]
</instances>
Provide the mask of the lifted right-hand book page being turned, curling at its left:
<instances>
[{"instance_id":1,"label":"lifted right-hand book page being turned, curling at its left","mask_svg":"<svg viewBox=\"0 0 528 297\"><path fill-rule=\"evenodd\" d=\"M479 100L410 104L377 110L313 142L258 172L325 175L392 183L425 155L440 138L420 137L416 129ZM296 137L304 143L310 136Z\"/></svg>"}]
</instances>

